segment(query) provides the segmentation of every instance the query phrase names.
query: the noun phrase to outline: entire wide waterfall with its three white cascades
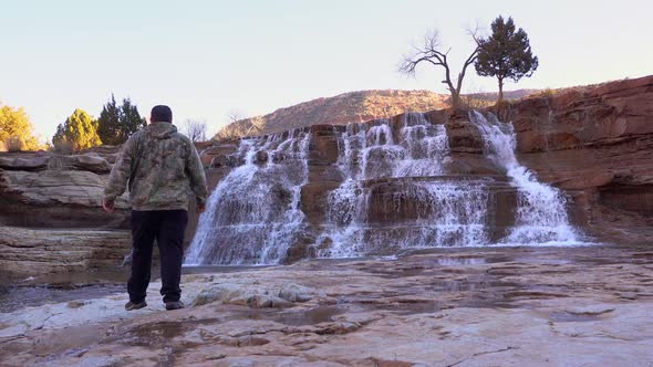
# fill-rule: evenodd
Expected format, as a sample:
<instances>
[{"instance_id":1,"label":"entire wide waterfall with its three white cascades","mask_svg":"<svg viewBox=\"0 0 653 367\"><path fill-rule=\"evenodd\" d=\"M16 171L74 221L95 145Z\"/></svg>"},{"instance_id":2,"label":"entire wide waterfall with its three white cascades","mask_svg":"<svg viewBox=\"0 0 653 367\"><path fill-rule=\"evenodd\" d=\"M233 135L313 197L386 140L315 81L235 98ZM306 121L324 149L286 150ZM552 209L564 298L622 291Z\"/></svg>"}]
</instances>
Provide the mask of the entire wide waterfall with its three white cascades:
<instances>
[{"instance_id":1,"label":"entire wide waterfall with its three white cascades","mask_svg":"<svg viewBox=\"0 0 653 367\"><path fill-rule=\"evenodd\" d=\"M310 218L300 201L312 130L241 139L227 159L236 167L200 216L186 264L274 264L289 250L351 258L423 248L579 244L563 192L517 160L512 125L478 112L469 120L484 156L452 153L445 126L417 113L333 128L329 138L335 138L338 158L331 167L342 181L335 189L333 181L311 182L328 189L305 191L315 192L314 200L305 199L323 210ZM318 141L333 143L317 140L312 149ZM453 168L454 157L462 165L471 159L481 174L456 174L476 170Z\"/></svg>"}]
</instances>

